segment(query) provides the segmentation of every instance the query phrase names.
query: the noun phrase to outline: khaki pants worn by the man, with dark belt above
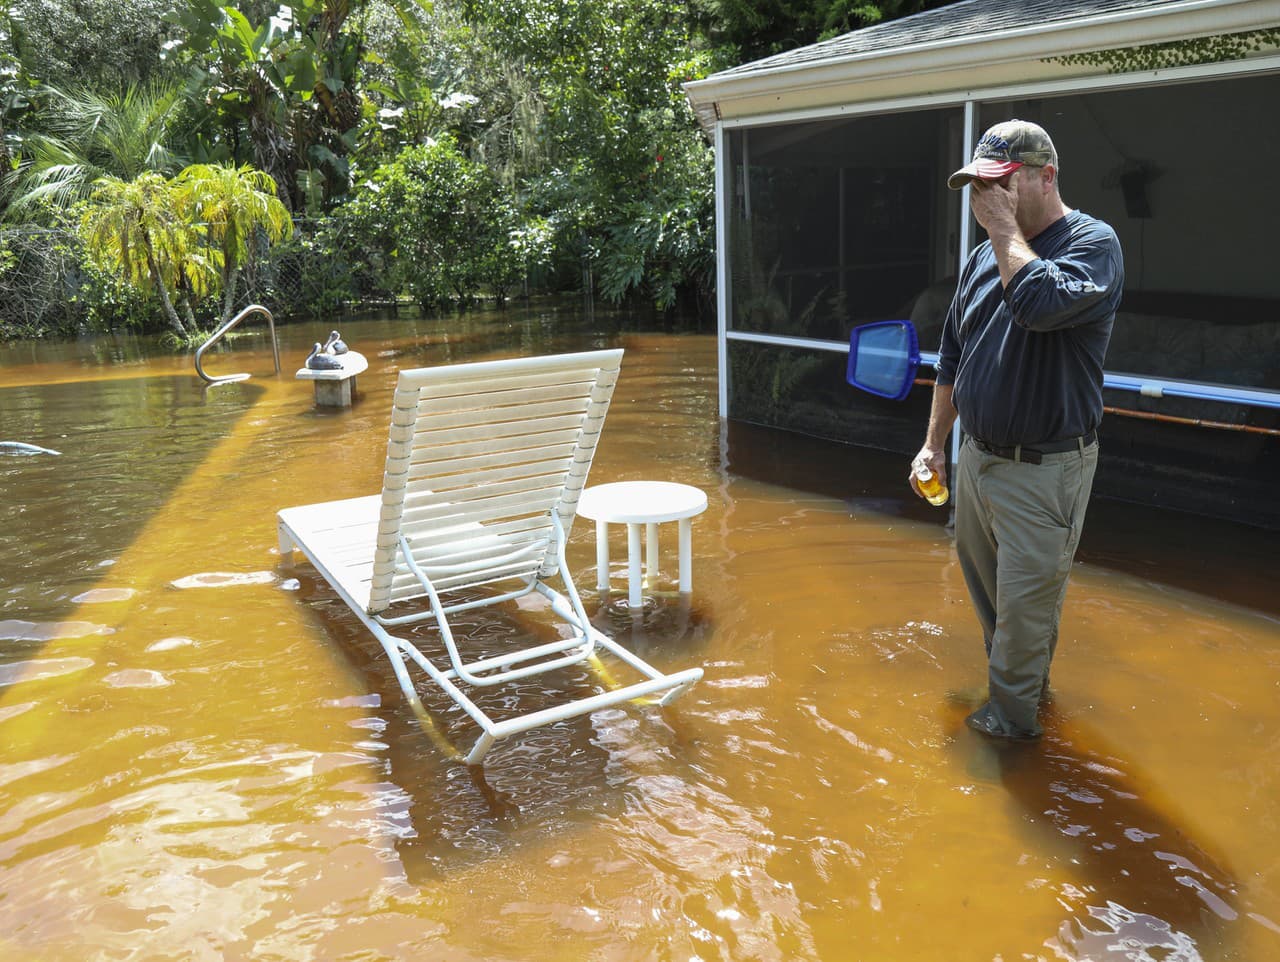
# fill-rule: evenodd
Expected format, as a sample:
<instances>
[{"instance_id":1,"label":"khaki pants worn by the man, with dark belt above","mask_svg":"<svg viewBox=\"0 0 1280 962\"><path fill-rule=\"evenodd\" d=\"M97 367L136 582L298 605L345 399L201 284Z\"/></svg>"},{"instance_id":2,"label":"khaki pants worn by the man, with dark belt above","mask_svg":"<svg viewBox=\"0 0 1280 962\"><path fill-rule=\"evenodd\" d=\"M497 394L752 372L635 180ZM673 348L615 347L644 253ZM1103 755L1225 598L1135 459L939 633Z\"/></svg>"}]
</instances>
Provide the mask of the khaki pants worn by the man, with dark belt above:
<instances>
[{"instance_id":1,"label":"khaki pants worn by the man, with dark belt above","mask_svg":"<svg viewBox=\"0 0 1280 962\"><path fill-rule=\"evenodd\" d=\"M1098 445L1039 464L960 449L956 553L987 645L989 714L1009 734L1039 734L1057 623Z\"/></svg>"}]
</instances>

